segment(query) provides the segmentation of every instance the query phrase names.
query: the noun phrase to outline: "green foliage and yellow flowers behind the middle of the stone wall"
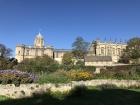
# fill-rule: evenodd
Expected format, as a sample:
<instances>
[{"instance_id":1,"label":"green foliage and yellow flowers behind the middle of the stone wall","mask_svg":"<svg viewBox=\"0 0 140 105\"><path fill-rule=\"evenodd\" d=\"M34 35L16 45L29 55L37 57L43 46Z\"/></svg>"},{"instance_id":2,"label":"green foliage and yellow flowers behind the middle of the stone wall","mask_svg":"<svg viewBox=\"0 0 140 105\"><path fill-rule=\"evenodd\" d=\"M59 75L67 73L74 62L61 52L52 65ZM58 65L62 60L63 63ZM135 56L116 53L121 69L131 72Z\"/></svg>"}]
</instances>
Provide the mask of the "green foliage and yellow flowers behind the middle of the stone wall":
<instances>
[{"instance_id":1,"label":"green foliage and yellow flowers behind the middle of the stone wall","mask_svg":"<svg viewBox=\"0 0 140 105\"><path fill-rule=\"evenodd\" d=\"M70 81L90 80L93 72L83 70L58 70L53 73L43 73L38 76L38 83L68 83Z\"/></svg>"}]
</instances>

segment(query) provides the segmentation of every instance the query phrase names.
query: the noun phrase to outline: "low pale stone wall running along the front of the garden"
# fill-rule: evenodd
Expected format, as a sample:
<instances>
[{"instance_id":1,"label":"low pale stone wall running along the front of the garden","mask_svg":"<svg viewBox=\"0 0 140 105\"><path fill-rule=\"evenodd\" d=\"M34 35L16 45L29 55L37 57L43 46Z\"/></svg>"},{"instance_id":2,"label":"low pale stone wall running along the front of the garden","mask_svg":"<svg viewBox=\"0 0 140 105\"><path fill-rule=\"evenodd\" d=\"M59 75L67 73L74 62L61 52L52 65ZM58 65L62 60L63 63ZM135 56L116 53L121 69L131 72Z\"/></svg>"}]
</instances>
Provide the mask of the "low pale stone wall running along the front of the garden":
<instances>
[{"instance_id":1,"label":"low pale stone wall running along the front of the garden","mask_svg":"<svg viewBox=\"0 0 140 105\"><path fill-rule=\"evenodd\" d=\"M47 91L70 91L75 86L98 86L103 84L114 84L118 87L139 86L140 80L89 80L89 81L73 81L67 84L21 84L15 87L14 84L0 85L0 95L11 98L30 97L33 94L42 94Z\"/></svg>"}]
</instances>

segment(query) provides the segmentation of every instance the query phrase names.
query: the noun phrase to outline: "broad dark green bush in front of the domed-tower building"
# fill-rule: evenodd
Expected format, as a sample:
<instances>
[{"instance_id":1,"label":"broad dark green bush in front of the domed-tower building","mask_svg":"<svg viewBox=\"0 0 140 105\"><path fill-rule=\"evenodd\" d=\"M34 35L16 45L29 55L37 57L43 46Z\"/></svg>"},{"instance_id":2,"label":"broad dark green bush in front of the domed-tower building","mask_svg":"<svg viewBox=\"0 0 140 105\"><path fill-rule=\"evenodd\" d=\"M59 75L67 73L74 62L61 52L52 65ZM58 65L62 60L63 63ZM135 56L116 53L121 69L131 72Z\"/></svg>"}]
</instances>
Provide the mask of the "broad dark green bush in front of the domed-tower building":
<instances>
[{"instance_id":1,"label":"broad dark green bush in front of the domed-tower building","mask_svg":"<svg viewBox=\"0 0 140 105\"><path fill-rule=\"evenodd\" d=\"M54 72L58 69L59 64L47 55L32 59L25 59L16 66L16 69L27 72Z\"/></svg>"}]
</instances>

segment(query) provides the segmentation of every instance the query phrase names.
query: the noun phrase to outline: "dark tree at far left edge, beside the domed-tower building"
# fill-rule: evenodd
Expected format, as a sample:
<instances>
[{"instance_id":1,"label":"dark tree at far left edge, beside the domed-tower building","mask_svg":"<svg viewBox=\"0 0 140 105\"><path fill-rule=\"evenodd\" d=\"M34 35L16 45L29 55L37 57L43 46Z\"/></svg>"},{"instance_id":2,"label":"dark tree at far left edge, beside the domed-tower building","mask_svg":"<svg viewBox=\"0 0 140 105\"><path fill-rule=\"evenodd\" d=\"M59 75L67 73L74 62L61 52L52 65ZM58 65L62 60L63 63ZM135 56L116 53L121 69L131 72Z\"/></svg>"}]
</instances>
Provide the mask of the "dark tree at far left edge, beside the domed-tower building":
<instances>
[{"instance_id":1,"label":"dark tree at far left edge, beside the domed-tower building","mask_svg":"<svg viewBox=\"0 0 140 105\"><path fill-rule=\"evenodd\" d=\"M0 44L0 57L2 58L9 58L12 50L10 48L7 48L5 45Z\"/></svg>"}]
</instances>

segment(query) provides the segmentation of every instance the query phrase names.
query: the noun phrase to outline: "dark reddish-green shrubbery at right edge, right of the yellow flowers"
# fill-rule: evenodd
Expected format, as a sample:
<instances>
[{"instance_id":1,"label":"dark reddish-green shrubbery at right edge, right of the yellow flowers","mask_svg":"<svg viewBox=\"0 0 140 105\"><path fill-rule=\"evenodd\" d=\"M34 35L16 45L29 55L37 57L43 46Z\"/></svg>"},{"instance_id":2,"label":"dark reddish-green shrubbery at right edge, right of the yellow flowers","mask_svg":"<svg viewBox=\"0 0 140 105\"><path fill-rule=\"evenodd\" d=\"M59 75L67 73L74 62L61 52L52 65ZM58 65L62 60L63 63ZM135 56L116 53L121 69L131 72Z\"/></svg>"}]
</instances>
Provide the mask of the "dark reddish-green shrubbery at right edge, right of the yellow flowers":
<instances>
[{"instance_id":1,"label":"dark reddish-green shrubbery at right edge, right of the yellow flowers","mask_svg":"<svg viewBox=\"0 0 140 105\"><path fill-rule=\"evenodd\" d=\"M140 66L127 65L106 67L106 69L101 69L101 73L96 74L95 78L137 80L140 79Z\"/></svg>"}]
</instances>

